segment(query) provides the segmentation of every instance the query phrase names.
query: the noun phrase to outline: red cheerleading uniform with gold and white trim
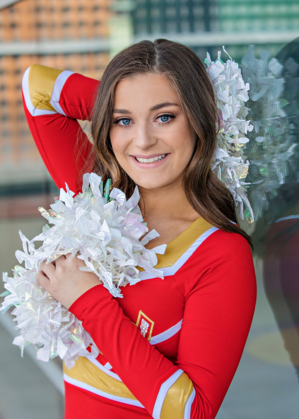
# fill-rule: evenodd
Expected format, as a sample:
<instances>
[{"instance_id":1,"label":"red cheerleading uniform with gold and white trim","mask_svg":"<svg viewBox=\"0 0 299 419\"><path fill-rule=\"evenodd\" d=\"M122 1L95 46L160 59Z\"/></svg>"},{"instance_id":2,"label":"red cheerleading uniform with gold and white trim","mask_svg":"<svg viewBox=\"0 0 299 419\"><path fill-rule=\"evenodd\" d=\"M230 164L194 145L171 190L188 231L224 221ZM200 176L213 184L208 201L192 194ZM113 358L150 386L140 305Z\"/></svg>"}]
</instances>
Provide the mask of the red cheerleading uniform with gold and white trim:
<instances>
[{"instance_id":1,"label":"red cheerleading uniform with gold and white trim","mask_svg":"<svg viewBox=\"0 0 299 419\"><path fill-rule=\"evenodd\" d=\"M78 192L76 119L90 119L99 83L37 64L23 75L26 118L58 188ZM250 246L199 217L157 258L164 279L139 268L146 280L121 287L123 298L96 285L71 305L100 354L64 365L65 419L216 416L253 319Z\"/></svg>"}]
</instances>

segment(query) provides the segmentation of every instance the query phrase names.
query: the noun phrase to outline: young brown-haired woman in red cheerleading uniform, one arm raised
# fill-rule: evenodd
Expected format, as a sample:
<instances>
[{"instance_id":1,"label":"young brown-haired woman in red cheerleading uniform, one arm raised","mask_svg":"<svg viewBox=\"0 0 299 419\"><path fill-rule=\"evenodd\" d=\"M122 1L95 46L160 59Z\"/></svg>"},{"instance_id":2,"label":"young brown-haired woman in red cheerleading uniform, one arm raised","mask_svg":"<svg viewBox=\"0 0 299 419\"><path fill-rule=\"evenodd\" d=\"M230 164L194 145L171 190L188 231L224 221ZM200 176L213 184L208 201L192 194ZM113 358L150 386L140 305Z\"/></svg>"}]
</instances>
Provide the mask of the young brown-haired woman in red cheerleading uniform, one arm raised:
<instances>
[{"instance_id":1,"label":"young brown-haired woman in red cheerleading uniform, one arm raised","mask_svg":"<svg viewBox=\"0 0 299 419\"><path fill-rule=\"evenodd\" d=\"M210 168L217 108L204 65L182 44L145 40L119 52L101 83L31 65L23 101L59 188L77 193L91 170L128 197L137 184L144 220L160 233L147 246L167 244L156 265L164 279L140 268L147 280L122 299L80 271L80 259L42 264L39 284L100 349L97 360L64 365L65 418L213 419L244 349L256 282L250 238ZM92 120L93 147L77 138L76 119Z\"/></svg>"}]
</instances>

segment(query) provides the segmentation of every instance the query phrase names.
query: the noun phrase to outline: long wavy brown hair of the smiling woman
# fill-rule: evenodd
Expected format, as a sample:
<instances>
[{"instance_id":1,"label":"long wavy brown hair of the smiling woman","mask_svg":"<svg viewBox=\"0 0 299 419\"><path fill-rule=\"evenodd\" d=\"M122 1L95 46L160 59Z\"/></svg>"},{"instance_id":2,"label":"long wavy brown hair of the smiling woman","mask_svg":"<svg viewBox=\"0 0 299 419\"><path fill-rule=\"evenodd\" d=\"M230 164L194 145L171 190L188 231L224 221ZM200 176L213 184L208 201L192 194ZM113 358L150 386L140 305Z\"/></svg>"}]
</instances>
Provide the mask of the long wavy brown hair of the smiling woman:
<instances>
[{"instance_id":1,"label":"long wavy brown hair of the smiling woman","mask_svg":"<svg viewBox=\"0 0 299 419\"><path fill-rule=\"evenodd\" d=\"M217 147L219 117L213 87L206 69L197 55L179 42L168 39L143 40L116 54L107 65L95 98L91 122L93 147L90 160L81 168L78 182L85 171L98 173L105 182L124 191L127 197L135 183L116 160L109 137L116 83L134 75L155 72L165 75L186 113L196 145L183 173L183 188L191 207L210 224L246 238L250 236L237 222L232 193L211 171ZM88 169L88 170L87 170Z\"/></svg>"}]
</instances>

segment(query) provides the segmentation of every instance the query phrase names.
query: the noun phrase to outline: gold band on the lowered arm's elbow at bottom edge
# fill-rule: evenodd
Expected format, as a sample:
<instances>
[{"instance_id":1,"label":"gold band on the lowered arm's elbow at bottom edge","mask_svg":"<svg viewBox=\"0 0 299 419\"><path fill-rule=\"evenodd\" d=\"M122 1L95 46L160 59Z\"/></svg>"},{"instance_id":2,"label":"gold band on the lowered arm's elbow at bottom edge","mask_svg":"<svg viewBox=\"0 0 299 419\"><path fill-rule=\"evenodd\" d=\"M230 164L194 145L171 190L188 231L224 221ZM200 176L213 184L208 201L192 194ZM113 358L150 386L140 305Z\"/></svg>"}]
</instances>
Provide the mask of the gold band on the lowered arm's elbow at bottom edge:
<instances>
[{"instance_id":1,"label":"gold band on the lowered arm's elbow at bottom edge","mask_svg":"<svg viewBox=\"0 0 299 419\"><path fill-rule=\"evenodd\" d=\"M193 391L193 383L183 372L166 393L160 419L184 419L185 405Z\"/></svg>"}]
</instances>

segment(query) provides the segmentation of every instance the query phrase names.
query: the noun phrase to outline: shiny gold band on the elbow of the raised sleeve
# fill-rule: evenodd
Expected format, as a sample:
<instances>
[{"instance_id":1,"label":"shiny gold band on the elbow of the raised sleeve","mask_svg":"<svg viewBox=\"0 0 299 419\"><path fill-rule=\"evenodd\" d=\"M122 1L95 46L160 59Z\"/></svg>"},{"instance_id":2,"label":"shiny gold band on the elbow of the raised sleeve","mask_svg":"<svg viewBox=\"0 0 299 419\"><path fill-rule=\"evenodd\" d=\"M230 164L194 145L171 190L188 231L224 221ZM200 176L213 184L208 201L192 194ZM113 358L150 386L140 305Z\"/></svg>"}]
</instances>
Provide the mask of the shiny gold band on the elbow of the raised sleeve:
<instances>
[{"instance_id":1,"label":"shiny gold band on the elbow of the raised sleeve","mask_svg":"<svg viewBox=\"0 0 299 419\"><path fill-rule=\"evenodd\" d=\"M63 70L33 64L29 68L28 85L31 103L36 109L55 111L50 103L55 81Z\"/></svg>"}]
</instances>

